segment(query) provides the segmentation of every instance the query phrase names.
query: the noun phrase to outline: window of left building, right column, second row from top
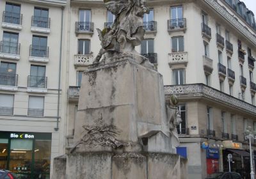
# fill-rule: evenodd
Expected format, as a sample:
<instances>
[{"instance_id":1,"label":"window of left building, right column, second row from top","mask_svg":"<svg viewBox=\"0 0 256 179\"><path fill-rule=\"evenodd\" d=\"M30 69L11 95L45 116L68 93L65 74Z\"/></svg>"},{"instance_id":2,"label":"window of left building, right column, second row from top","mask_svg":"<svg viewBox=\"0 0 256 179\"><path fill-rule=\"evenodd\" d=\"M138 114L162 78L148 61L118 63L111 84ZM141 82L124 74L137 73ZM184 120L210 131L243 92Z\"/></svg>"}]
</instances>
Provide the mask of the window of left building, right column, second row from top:
<instances>
[{"instance_id":1,"label":"window of left building, right column, second row from top","mask_svg":"<svg viewBox=\"0 0 256 179\"><path fill-rule=\"evenodd\" d=\"M47 49L48 49L47 48L47 37L33 35L30 55L47 58L48 57Z\"/></svg>"}]
</instances>

